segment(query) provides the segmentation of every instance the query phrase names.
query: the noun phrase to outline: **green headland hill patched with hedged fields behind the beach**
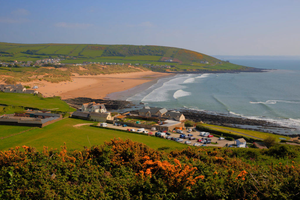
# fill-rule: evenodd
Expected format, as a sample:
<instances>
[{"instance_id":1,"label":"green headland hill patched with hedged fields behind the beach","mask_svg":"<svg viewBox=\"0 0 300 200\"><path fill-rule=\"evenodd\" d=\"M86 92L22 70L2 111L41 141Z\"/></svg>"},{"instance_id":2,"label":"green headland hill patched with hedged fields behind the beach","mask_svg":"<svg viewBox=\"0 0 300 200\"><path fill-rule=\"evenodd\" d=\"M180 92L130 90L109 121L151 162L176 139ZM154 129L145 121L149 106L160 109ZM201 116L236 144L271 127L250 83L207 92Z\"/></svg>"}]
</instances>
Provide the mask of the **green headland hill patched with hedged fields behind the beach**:
<instances>
[{"instance_id":1,"label":"green headland hill patched with hedged fields behind the beach","mask_svg":"<svg viewBox=\"0 0 300 200\"><path fill-rule=\"evenodd\" d=\"M84 61L89 61L171 65L170 69L152 68L154 71L253 69L223 62L203 53L175 47L103 44L15 44L0 42L1 61L36 61L58 56L65 59L62 63L83 63ZM173 62L165 62L165 60L171 58ZM208 64L200 63L201 61L208 61Z\"/></svg>"}]
</instances>

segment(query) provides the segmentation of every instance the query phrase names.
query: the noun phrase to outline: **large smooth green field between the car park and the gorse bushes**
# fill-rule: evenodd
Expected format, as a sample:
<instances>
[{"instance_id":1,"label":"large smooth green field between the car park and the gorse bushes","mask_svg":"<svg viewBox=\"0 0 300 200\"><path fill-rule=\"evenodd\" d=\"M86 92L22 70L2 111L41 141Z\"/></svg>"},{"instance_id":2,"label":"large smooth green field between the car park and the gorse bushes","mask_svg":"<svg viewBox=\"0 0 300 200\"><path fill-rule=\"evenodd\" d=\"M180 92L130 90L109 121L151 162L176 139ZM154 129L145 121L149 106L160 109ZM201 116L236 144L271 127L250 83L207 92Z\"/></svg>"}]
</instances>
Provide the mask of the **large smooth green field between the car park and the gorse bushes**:
<instances>
[{"instance_id":1,"label":"large smooth green field between the car park and the gorse bushes","mask_svg":"<svg viewBox=\"0 0 300 200\"><path fill-rule=\"evenodd\" d=\"M7 150L16 146L26 145L36 147L37 150L43 150L43 146L60 148L60 146L64 145L64 142L66 142L68 149L82 149L82 146L90 147L88 139L91 145L101 145L104 141L110 141L110 139L113 138L129 138L154 149L164 146L170 147L171 149L182 149L186 147L185 144L152 136L100 129L88 125L73 127L73 125L80 123L91 122L66 118L45 126L44 128L34 129L19 135L4 138L1 140L0 149Z\"/></svg>"}]
</instances>

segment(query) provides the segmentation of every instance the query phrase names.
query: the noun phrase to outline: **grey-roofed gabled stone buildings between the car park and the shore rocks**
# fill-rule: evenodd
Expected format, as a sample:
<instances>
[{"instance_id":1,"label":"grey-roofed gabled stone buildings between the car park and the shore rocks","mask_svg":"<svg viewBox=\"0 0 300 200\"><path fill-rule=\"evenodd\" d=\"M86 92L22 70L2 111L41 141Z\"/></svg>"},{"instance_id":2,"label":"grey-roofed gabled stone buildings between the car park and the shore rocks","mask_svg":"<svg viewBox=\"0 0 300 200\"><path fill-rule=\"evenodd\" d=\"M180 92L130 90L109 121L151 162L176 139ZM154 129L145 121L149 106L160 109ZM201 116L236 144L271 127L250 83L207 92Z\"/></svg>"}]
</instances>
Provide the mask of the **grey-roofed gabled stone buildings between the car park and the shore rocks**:
<instances>
[{"instance_id":1,"label":"grey-roofed gabled stone buildings between the car park and the shore rocks","mask_svg":"<svg viewBox=\"0 0 300 200\"><path fill-rule=\"evenodd\" d=\"M156 108L145 106L139 111L139 115L143 117L160 117L168 120L184 121L185 117L179 111L168 111L166 108Z\"/></svg>"}]
</instances>

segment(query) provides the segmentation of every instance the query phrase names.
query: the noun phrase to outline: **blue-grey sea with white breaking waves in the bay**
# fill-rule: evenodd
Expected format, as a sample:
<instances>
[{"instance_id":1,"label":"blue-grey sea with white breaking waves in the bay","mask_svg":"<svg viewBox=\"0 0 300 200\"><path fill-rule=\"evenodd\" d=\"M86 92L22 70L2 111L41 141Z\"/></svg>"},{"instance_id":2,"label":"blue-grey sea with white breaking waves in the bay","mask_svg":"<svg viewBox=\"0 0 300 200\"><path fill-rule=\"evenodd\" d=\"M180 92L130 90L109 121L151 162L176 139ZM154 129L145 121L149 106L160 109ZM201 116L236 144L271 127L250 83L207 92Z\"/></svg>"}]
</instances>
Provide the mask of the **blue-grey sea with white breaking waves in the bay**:
<instances>
[{"instance_id":1,"label":"blue-grey sea with white breaking waves in the bay","mask_svg":"<svg viewBox=\"0 0 300 200\"><path fill-rule=\"evenodd\" d=\"M108 98L266 120L300 134L300 59L230 59L263 73L177 74ZM114 96L115 95L115 96Z\"/></svg>"}]
</instances>

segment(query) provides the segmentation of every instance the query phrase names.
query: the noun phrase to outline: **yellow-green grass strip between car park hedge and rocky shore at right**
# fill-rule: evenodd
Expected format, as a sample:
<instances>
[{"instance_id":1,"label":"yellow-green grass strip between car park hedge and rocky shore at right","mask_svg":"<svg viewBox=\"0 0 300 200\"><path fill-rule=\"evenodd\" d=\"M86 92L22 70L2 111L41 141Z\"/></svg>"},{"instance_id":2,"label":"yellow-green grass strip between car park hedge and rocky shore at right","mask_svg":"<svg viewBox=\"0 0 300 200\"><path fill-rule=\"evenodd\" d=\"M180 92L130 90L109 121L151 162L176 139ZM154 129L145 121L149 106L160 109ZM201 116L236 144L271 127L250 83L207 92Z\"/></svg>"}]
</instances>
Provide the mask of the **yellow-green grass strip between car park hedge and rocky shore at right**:
<instances>
[{"instance_id":1,"label":"yellow-green grass strip between car park hedge and rocky shore at right","mask_svg":"<svg viewBox=\"0 0 300 200\"><path fill-rule=\"evenodd\" d=\"M235 133L235 132L231 132L231 131L237 131L237 132L241 132L250 136L254 136L257 138L262 138L265 139L268 136L274 137L276 138L276 141L279 142L281 139L279 138L286 138L287 140L289 140L289 137L286 136L281 136L281 135L275 135L275 134L271 134L271 133L264 133L264 132L259 132L259 131L251 131L251 130L246 130L246 129L238 129L238 128L231 128L231 127L225 127L225 126L217 126L217 125L211 125L211 124L202 124L202 126L213 126L215 128L211 128L213 130L217 130L217 131L221 131L221 132L225 132L225 133L231 133L231 134L235 134L235 135L242 135L245 136L243 134L240 133ZM231 131L226 131L226 130L222 130L222 129L218 129L218 128L222 128L222 129L227 129L227 130L231 130Z\"/></svg>"}]
</instances>

